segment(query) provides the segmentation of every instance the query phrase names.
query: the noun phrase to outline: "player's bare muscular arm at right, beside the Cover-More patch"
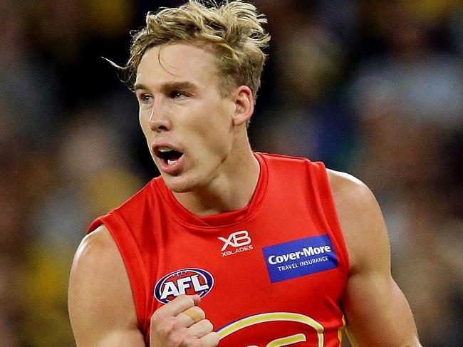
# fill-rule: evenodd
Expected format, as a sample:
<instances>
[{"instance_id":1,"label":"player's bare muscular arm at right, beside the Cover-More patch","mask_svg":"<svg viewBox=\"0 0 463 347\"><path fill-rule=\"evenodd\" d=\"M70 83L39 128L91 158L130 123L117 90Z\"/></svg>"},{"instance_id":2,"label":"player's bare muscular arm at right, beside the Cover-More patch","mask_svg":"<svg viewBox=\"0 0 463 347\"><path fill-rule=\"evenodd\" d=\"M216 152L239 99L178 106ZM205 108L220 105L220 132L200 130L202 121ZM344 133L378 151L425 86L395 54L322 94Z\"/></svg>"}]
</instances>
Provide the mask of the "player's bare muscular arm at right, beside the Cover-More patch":
<instances>
[{"instance_id":1,"label":"player's bare muscular arm at right, beside the Cover-More patch","mask_svg":"<svg viewBox=\"0 0 463 347\"><path fill-rule=\"evenodd\" d=\"M354 346L417 347L415 322L390 274L389 239L373 193L362 182L328 170L350 257L343 299Z\"/></svg>"}]
</instances>

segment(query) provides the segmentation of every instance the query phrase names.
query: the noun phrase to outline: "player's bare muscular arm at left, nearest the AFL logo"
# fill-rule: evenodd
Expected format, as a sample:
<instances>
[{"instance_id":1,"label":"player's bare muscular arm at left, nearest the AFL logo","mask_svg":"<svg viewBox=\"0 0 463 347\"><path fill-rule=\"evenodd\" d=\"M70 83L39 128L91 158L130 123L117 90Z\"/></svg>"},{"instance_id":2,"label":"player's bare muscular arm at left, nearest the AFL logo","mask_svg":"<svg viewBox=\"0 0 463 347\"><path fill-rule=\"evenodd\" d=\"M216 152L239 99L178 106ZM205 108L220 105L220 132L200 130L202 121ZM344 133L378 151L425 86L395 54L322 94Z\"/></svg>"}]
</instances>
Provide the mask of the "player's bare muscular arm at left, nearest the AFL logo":
<instances>
[{"instance_id":1,"label":"player's bare muscular arm at left, nearest the AFL logo","mask_svg":"<svg viewBox=\"0 0 463 347\"><path fill-rule=\"evenodd\" d=\"M69 315L78 347L144 347L132 291L106 227L78 247L69 281Z\"/></svg>"}]
</instances>

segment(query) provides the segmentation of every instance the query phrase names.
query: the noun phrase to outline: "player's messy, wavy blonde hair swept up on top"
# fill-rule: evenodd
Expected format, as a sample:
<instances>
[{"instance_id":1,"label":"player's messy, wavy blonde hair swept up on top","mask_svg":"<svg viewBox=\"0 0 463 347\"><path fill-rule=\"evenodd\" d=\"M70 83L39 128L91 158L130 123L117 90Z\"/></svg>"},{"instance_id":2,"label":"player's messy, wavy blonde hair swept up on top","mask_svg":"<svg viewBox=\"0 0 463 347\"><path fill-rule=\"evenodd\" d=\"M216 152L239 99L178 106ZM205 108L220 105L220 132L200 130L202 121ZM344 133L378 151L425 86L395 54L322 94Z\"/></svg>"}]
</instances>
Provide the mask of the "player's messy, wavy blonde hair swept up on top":
<instances>
[{"instance_id":1,"label":"player's messy, wavy blonde hair swept up on top","mask_svg":"<svg viewBox=\"0 0 463 347\"><path fill-rule=\"evenodd\" d=\"M232 88L248 86L256 99L266 61L264 48L270 36L262 28L266 23L256 6L244 1L225 1L209 6L189 0L178 8L164 8L146 16L146 27L133 33L130 58L123 67L133 83L145 52L154 46L187 42L211 46L217 57L219 92L226 97Z\"/></svg>"}]
</instances>

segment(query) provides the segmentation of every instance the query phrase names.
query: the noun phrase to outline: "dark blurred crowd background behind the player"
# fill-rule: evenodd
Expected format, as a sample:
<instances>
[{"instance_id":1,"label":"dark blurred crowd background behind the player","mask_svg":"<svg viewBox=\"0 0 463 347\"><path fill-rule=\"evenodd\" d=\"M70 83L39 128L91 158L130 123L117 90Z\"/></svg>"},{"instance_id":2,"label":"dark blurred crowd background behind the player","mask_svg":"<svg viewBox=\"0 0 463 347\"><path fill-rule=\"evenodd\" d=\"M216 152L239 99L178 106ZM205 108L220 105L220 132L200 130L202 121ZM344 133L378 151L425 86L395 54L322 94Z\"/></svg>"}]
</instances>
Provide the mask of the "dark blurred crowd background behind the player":
<instances>
[{"instance_id":1,"label":"dark blurred crowd background behind the player","mask_svg":"<svg viewBox=\"0 0 463 347\"><path fill-rule=\"evenodd\" d=\"M463 346L462 1L254 2L272 35L254 149L366 182L422 343ZM157 175L101 57L125 63L146 12L180 3L0 0L0 346L75 346L78 242Z\"/></svg>"}]
</instances>

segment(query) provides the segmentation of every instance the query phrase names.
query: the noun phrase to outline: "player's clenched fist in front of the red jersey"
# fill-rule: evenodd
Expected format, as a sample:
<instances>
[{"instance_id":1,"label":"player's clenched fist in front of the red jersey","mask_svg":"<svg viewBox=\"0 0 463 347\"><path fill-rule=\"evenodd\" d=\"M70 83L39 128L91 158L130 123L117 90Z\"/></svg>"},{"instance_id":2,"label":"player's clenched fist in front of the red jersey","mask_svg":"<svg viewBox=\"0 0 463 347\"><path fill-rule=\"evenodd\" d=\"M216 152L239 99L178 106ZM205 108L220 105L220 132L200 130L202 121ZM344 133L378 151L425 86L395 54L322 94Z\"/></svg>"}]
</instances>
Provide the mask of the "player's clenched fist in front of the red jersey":
<instances>
[{"instance_id":1,"label":"player's clenched fist in front of the red jersey","mask_svg":"<svg viewBox=\"0 0 463 347\"><path fill-rule=\"evenodd\" d=\"M180 295L151 317L150 347L214 347L219 334L199 308L198 295Z\"/></svg>"}]
</instances>

